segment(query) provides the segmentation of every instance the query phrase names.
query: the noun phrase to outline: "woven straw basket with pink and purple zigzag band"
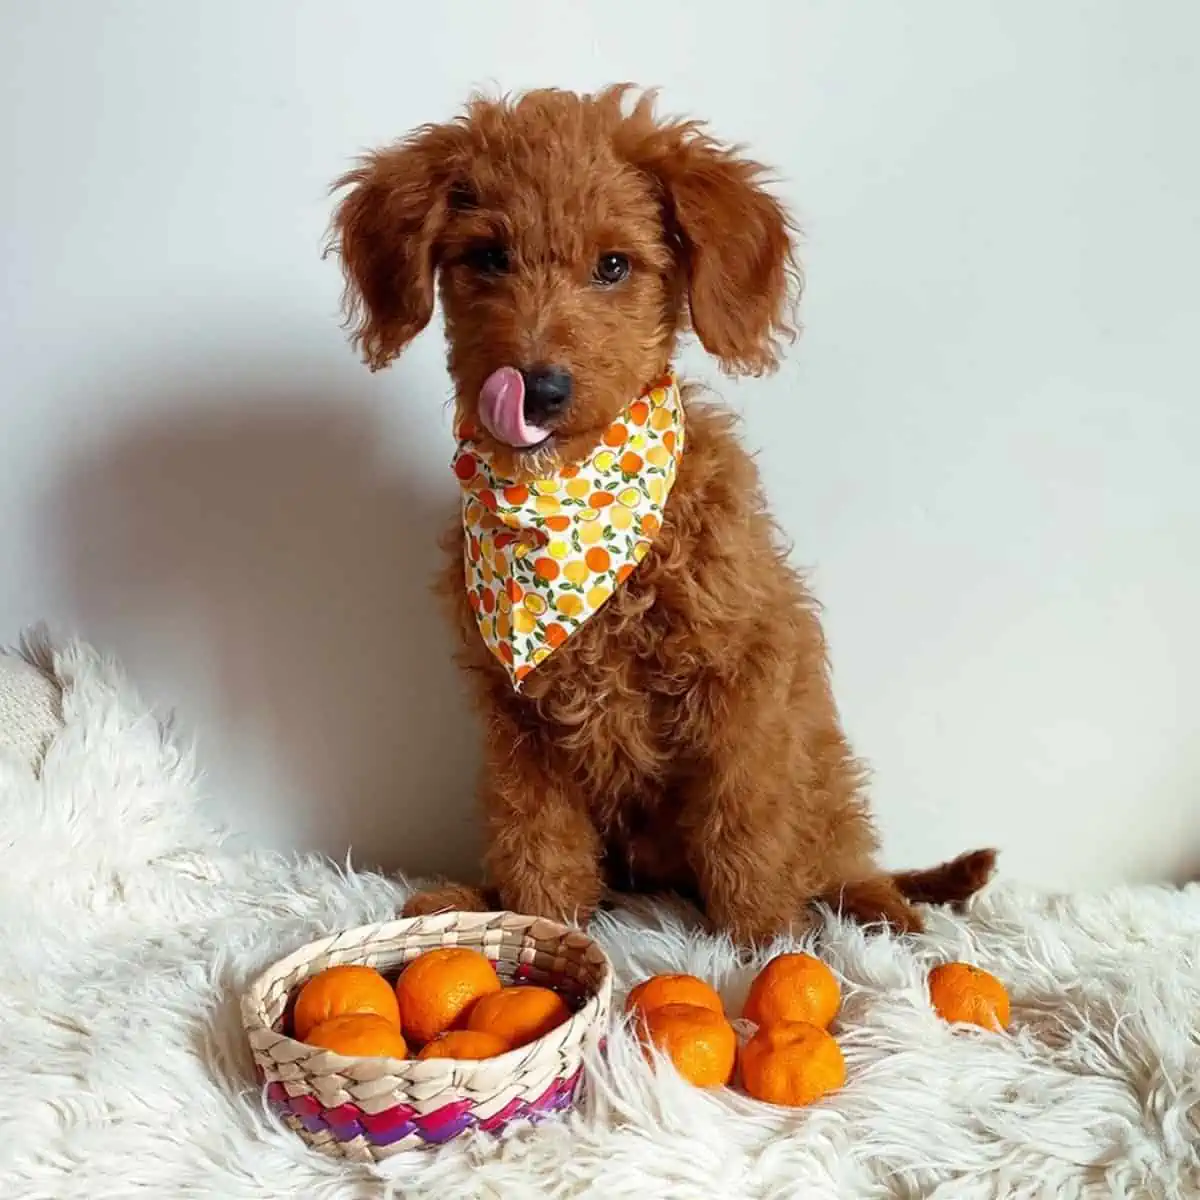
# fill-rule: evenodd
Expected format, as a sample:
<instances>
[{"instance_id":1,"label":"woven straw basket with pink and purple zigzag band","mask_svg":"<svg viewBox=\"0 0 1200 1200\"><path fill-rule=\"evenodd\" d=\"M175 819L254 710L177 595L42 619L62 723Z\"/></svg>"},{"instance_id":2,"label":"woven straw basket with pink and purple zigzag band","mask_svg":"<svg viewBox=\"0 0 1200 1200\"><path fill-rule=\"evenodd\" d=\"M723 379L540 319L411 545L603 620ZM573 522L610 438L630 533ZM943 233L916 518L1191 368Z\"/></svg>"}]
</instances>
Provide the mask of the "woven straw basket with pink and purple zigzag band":
<instances>
[{"instance_id":1,"label":"woven straw basket with pink and purple zigzag band","mask_svg":"<svg viewBox=\"0 0 1200 1200\"><path fill-rule=\"evenodd\" d=\"M576 1010L536 1042L478 1062L347 1058L281 1032L298 986L318 971L360 962L392 978L438 946L482 950L505 983L553 985ZM511 912L448 912L312 942L251 984L241 1014L268 1100L284 1122L326 1154L378 1162L570 1108L584 1051L604 1036L611 995L612 965L578 930Z\"/></svg>"}]
</instances>

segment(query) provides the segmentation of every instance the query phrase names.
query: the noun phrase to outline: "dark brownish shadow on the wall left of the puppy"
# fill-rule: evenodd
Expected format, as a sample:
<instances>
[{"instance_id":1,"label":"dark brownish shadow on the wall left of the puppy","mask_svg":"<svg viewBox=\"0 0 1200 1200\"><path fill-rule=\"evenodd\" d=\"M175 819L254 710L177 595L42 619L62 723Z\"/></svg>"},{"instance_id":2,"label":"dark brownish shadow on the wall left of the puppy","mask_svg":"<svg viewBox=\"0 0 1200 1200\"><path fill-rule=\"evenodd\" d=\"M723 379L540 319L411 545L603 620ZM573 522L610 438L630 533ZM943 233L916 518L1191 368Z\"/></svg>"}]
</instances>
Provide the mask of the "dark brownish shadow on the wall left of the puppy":
<instances>
[{"instance_id":1,"label":"dark brownish shadow on the wall left of the puppy","mask_svg":"<svg viewBox=\"0 0 1200 1200\"><path fill-rule=\"evenodd\" d=\"M242 809L286 808L280 840L472 878L478 736L430 590L454 511L444 462L389 462L370 403L281 384L278 361L256 374L272 383L146 397L133 410L155 418L62 480L74 611L204 673L220 706L204 754L236 758L242 784L265 764L275 784ZM239 803L223 798L234 822Z\"/></svg>"}]
</instances>

